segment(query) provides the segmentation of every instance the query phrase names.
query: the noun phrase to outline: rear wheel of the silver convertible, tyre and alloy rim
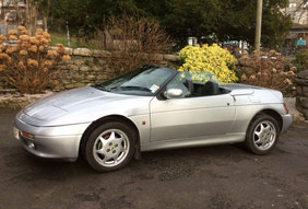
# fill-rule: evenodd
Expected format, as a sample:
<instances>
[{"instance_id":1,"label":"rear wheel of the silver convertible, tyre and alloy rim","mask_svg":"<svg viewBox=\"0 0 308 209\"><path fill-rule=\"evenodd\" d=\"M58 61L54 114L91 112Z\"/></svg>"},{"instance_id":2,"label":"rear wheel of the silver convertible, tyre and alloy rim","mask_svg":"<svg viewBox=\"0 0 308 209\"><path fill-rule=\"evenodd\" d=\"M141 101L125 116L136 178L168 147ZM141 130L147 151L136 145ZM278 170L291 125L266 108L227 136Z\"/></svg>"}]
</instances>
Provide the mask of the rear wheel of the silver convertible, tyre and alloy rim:
<instances>
[{"instance_id":1,"label":"rear wheel of the silver convertible, tyre and alloy rim","mask_svg":"<svg viewBox=\"0 0 308 209\"><path fill-rule=\"evenodd\" d=\"M257 115L247 129L245 144L254 154L266 154L276 146L279 131L279 124L272 116Z\"/></svg>"}]
</instances>

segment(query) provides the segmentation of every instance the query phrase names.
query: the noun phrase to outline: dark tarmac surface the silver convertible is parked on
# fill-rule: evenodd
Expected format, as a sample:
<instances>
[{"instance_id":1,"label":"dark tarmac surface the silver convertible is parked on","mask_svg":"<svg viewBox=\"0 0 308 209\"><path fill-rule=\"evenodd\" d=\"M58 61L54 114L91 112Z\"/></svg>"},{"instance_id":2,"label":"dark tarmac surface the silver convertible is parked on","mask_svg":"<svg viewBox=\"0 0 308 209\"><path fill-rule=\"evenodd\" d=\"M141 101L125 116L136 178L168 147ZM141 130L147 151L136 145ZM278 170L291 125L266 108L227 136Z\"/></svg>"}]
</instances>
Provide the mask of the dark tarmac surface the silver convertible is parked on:
<instances>
[{"instance_id":1,"label":"dark tarmac surface the silver convertible is parked on","mask_svg":"<svg viewBox=\"0 0 308 209\"><path fill-rule=\"evenodd\" d=\"M308 208L308 126L281 136L269 155L241 146L142 153L111 173L33 158L13 139L16 112L0 109L0 209Z\"/></svg>"}]
</instances>

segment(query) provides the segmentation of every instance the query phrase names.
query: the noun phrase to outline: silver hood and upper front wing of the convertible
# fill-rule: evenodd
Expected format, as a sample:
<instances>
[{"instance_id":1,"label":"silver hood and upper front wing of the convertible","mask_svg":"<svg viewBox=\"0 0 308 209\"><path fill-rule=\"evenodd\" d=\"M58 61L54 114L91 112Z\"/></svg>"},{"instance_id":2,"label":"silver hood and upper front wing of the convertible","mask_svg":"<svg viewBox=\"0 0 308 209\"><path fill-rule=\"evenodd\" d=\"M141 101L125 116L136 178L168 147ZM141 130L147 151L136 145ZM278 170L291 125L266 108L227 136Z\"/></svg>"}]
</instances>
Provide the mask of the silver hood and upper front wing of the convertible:
<instances>
[{"instance_id":1,"label":"silver hood and upper front wing of the convertible","mask_svg":"<svg viewBox=\"0 0 308 209\"><path fill-rule=\"evenodd\" d=\"M57 93L26 106L26 123L39 126L90 123L104 115L149 113L152 96L115 94L92 86Z\"/></svg>"}]
</instances>

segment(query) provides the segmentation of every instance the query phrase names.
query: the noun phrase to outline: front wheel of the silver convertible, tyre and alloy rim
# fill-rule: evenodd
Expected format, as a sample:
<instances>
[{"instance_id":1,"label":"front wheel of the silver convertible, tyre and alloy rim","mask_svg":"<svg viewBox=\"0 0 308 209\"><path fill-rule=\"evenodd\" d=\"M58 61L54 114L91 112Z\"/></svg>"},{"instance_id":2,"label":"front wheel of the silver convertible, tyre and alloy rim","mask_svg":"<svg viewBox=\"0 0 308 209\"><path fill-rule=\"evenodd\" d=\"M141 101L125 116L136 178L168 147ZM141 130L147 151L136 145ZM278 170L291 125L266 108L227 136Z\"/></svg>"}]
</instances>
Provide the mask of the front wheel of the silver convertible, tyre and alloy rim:
<instances>
[{"instance_id":1,"label":"front wheel of the silver convertible, tyre and alloy rim","mask_svg":"<svg viewBox=\"0 0 308 209\"><path fill-rule=\"evenodd\" d=\"M134 153L134 133L126 124L103 124L85 142L85 160L97 172L121 169L130 162Z\"/></svg>"}]
</instances>

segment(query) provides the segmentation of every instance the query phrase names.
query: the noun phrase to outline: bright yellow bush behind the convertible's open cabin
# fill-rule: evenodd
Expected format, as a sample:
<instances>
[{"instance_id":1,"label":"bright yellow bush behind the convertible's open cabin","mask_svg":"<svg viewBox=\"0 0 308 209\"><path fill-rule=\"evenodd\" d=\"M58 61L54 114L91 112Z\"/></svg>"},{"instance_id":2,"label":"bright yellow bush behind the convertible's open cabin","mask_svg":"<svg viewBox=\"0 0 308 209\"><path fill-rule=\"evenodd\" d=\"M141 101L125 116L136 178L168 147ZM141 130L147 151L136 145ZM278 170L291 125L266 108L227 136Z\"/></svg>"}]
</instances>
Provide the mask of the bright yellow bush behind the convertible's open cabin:
<instances>
[{"instance_id":1,"label":"bright yellow bush behind the convertible's open cabin","mask_svg":"<svg viewBox=\"0 0 308 209\"><path fill-rule=\"evenodd\" d=\"M235 57L216 44L187 46L180 50L178 59L181 62L179 71L212 72L223 83L238 80L235 74Z\"/></svg>"}]
</instances>

